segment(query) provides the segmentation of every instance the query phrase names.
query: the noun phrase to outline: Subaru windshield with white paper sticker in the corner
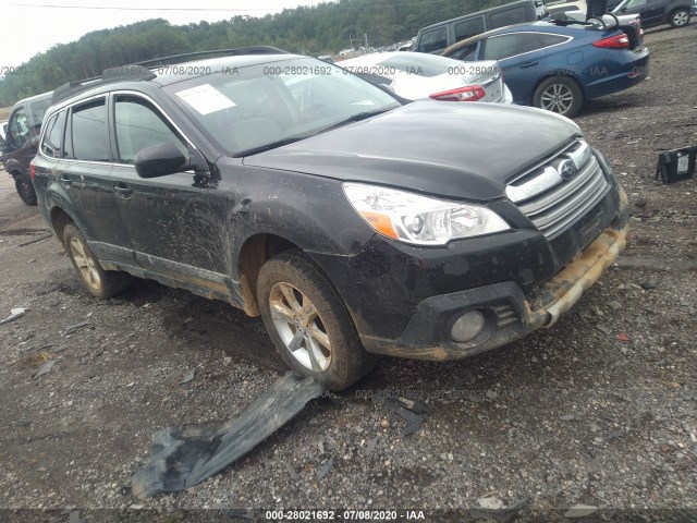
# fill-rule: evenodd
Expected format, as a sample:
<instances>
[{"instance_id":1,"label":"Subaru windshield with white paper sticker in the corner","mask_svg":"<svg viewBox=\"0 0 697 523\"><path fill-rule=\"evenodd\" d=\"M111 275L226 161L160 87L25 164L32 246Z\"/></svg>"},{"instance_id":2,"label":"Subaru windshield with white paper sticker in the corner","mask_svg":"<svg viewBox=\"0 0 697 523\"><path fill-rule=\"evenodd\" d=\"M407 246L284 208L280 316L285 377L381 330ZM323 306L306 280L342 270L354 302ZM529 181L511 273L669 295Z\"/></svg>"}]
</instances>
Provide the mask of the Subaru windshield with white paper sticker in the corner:
<instances>
[{"instance_id":1,"label":"Subaru windshield with white paper sticker in the corner","mask_svg":"<svg viewBox=\"0 0 697 523\"><path fill-rule=\"evenodd\" d=\"M400 104L379 87L315 59L225 69L166 89L230 156L313 136L356 114Z\"/></svg>"}]
</instances>

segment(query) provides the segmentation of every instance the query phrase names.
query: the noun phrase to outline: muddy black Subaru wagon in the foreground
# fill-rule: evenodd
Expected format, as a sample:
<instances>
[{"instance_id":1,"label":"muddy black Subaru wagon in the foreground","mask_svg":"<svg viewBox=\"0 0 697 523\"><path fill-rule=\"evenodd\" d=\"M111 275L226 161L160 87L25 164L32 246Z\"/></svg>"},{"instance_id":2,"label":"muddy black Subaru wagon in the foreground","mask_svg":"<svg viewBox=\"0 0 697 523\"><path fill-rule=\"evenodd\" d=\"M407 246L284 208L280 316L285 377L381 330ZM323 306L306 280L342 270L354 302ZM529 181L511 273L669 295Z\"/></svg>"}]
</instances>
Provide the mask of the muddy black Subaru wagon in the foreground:
<instances>
[{"instance_id":1,"label":"muddy black Subaru wagon in the foreground","mask_svg":"<svg viewBox=\"0 0 697 523\"><path fill-rule=\"evenodd\" d=\"M132 275L224 300L339 390L372 354L443 361L550 327L625 244L626 196L571 120L229 53L56 92L34 183L95 296Z\"/></svg>"}]
</instances>

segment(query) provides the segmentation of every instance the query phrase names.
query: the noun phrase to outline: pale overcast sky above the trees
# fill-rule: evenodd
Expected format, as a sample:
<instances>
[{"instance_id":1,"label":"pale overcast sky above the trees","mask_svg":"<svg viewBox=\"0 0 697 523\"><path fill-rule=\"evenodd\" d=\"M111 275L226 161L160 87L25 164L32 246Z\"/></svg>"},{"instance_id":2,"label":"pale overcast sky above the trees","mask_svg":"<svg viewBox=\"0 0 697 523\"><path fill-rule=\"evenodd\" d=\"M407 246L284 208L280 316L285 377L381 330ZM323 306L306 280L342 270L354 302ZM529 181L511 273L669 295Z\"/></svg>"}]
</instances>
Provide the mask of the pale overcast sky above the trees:
<instances>
[{"instance_id":1,"label":"pale overcast sky above the trees","mask_svg":"<svg viewBox=\"0 0 697 523\"><path fill-rule=\"evenodd\" d=\"M5 3L7 2L7 3ZM264 16L319 0L4 0L0 8L0 74L57 44L98 29L166 19L172 25Z\"/></svg>"}]
</instances>

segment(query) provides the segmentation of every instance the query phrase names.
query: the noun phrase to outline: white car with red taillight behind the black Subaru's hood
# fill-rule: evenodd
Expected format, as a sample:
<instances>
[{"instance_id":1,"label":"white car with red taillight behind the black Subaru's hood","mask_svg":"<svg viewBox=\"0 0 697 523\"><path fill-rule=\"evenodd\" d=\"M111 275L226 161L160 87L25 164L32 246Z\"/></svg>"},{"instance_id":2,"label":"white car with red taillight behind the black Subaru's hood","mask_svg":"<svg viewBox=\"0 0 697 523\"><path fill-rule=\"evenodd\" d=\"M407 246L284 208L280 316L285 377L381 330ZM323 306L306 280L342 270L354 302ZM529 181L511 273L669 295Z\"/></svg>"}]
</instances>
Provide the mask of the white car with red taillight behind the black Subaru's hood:
<instances>
[{"instance_id":1,"label":"white car with red taillight behind the black Subaru's hood","mask_svg":"<svg viewBox=\"0 0 697 523\"><path fill-rule=\"evenodd\" d=\"M464 63L421 52L376 52L337 65L394 94L416 100L511 104L513 96L496 61Z\"/></svg>"}]
</instances>

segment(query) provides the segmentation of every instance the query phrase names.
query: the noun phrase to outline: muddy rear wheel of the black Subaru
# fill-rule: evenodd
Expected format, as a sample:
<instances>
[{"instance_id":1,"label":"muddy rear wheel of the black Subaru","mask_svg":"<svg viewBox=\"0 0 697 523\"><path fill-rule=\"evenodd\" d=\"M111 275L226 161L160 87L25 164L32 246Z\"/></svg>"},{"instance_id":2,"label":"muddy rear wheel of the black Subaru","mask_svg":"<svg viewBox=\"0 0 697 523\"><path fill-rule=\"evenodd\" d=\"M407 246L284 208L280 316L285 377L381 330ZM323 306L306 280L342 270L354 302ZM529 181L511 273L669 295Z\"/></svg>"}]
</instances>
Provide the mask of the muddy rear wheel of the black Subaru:
<instances>
[{"instance_id":1,"label":"muddy rear wheel of the black Subaru","mask_svg":"<svg viewBox=\"0 0 697 523\"><path fill-rule=\"evenodd\" d=\"M93 296L106 300L122 293L133 283L133 278L126 272L101 268L85 236L74 223L65 226L63 244L80 280Z\"/></svg>"}]
</instances>

